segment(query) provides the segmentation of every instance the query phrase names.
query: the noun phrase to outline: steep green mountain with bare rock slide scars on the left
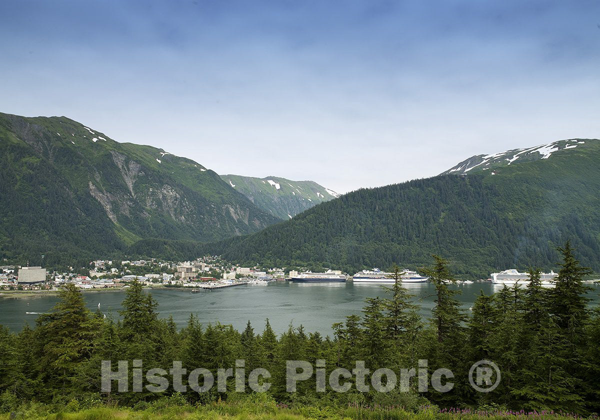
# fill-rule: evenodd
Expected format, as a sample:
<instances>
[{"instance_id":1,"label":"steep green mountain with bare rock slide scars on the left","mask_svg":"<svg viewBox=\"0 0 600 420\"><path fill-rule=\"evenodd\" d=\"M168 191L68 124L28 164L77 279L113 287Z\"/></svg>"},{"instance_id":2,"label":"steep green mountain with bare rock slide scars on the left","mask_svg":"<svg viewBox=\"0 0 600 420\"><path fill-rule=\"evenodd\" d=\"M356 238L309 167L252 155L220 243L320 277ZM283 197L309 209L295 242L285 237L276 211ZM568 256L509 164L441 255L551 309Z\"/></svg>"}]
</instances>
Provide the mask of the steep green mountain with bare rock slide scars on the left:
<instances>
[{"instance_id":1,"label":"steep green mountain with bare rock slide scars on the left","mask_svg":"<svg viewBox=\"0 0 600 420\"><path fill-rule=\"evenodd\" d=\"M0 114L0 260L100 257L148 238L208 242L278 222L218 174L66 117ZM89 261L89 260L88 260Z\"/></svg>"}]
</instances>

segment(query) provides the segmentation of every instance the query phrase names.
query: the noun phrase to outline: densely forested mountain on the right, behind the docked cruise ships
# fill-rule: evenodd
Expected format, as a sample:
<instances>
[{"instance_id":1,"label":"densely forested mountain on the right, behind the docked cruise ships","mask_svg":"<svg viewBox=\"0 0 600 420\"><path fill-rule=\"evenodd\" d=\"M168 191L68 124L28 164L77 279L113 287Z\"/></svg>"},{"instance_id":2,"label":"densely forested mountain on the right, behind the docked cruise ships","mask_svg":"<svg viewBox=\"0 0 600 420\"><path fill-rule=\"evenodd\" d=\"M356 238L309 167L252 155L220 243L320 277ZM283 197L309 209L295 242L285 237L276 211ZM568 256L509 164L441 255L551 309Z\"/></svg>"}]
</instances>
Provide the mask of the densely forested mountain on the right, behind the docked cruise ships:
<instances>
[{"instance_id":1,"label":"densely forested mountain on the right, behind the docked cruise ships","mask_svg":"<svg viewBox=\"0 0 600 420\"><path fill-rule=\"evenodd\" d=\"M475 156L447 175L356 190L211 249L244 264L350 273L392 263L417 269L439 254L458 275L478 279L512 267L556 269L556 247L570 239L582 263L600 272L600 141L524 150Z\"/></svg>"}]
</instances>

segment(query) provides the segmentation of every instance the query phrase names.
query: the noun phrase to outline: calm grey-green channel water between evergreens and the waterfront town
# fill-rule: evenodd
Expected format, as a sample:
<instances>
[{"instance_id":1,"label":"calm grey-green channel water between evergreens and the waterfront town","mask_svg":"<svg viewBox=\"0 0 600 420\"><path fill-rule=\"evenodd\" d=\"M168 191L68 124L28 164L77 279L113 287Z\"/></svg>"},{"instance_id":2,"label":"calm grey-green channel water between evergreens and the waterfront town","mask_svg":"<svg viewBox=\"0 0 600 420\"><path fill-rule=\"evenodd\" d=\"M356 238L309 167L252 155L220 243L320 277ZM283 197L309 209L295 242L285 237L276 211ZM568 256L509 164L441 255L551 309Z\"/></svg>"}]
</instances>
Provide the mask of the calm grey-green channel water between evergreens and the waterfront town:
<instances>
[{"instance_id":1,"label":"calm grey-green channel water between evergreens and the waterfront town","mask_svg":"<svg viewBox=\"0 0 600 420\"><path fill-rule=\"evenodd\" d=\"M410 293L421 306L421 314L429 317L433 306L434 287L430 282L408 284ZM483 290L491 294L499 290L491 283L473 283L451 286L463 293L458 296L468 310L476 296ZM592 304L598 305L600 286L594 285L589 294ZM245 285L223 290L185 293L175 290L154 290L152 296L158 301L161 317L173 315L182 327L191 313L204 324L220 321L244 329L248 320L254 330L260 332L269 318L275 332L281 333L292 322L303 324L308 331L331 335L331 324L343 321L348 315L361 314L365 298L384 296L385 290L377 284L298 284L287 281L270 282L268 285ZM119 318L124 291L83 293L90 309L100 309L107 317ZM38 315L25 312L47 312L58 302L56 296L0 297L0 324L12 330L22 329L25 323L35 325Z\"/></svg>"}]
</instances>

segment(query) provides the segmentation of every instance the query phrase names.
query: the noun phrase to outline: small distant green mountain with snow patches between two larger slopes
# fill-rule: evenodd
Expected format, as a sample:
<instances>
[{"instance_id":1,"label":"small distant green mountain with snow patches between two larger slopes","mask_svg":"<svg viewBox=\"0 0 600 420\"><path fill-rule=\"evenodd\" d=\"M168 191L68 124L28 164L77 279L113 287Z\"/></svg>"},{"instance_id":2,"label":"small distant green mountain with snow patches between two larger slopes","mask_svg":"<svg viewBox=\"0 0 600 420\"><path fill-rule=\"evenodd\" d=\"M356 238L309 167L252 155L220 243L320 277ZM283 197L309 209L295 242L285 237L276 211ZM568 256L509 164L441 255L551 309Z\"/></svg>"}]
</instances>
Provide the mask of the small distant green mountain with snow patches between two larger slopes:
<instances>
[{"instance_id":1,"label":"small distant green mountain with snow patches between two larger slopes","mask_svg":"<svg viewBox=\"0 0 600 420\"><path fill-rule=\"evenodd\" d=\"M244 194L262 210L287 220L323 201L340 196L313 181L291 181L286 178L254 178L221 175L236 191Z\"/></svg>"}]
</instances>

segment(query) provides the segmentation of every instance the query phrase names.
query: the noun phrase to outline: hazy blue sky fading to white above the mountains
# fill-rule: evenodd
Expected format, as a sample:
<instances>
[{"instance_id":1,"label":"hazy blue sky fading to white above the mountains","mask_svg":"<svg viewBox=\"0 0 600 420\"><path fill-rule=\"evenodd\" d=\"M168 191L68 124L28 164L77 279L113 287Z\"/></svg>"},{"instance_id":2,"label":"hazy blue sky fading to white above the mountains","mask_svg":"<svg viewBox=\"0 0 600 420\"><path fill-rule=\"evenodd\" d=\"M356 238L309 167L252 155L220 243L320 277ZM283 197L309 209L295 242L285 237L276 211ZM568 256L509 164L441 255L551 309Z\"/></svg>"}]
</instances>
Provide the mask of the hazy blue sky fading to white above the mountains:
<instances>
[{"instance_id":1,"label":"hazy blue sky fading to white above the mountains","mask_svg":"<svg viewBox=\"0 0 600 420\"><path fill-rule=\"evenodd\" d=\"M337 192L600 138L600 2L0 2L0 112Z\"/></svg>"}]
</instances>

